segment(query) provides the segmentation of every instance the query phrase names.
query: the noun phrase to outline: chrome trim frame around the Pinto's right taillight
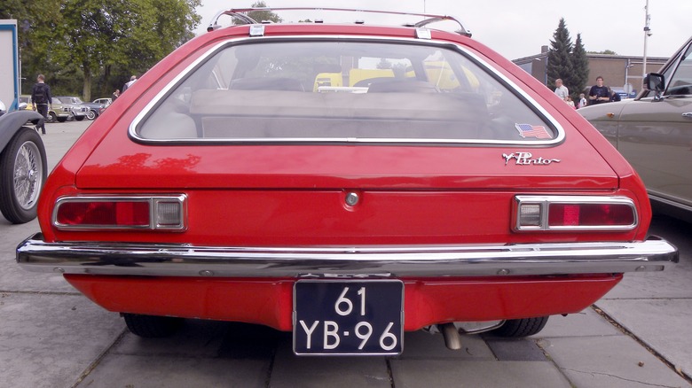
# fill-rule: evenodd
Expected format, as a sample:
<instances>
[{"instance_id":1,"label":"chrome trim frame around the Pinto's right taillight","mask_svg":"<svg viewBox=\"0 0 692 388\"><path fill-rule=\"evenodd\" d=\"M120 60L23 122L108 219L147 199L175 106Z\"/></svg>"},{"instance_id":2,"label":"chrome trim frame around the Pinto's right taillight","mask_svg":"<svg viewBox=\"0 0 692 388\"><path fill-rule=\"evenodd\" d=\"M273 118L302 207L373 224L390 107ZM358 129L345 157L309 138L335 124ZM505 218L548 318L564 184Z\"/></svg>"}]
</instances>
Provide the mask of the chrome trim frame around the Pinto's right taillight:
<instances>
[{"instance_id":1,"label":"chrome trim frame around the Pinto's right taillight","mask_svg":"<svg viewBox=\"0 0 692 388\"><path fill-rule=\"evenodd\" d=\"M538 226L523 226L520 223L519 211L524 205L540 206L540 224ZM625 205L633 212L633 223L629 225L589 225L589 226L558 226L548 224L548 209L550 205ZM617 231L632 230L639 225L639 213L632 198L616 196L531 196L518 195L512 206L512 225L515 231Z\"/></svg>"}]
</instances>

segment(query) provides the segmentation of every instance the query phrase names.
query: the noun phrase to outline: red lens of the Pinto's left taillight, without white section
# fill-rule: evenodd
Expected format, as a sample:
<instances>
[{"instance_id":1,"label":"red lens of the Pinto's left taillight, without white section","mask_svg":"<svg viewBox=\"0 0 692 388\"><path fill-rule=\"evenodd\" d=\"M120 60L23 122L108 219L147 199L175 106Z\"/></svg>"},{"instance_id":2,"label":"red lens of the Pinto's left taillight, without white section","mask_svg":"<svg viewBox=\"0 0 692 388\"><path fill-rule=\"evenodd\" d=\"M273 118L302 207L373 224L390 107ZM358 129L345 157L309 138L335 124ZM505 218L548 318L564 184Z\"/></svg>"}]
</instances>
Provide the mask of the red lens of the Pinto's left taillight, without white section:
<instances>
[{"instance_id":1,"label":"red lens of the Pinto's left taillight, without white section","mask_svg":"<svg viewBox=\"0 0 692 388\"><path fill-rule=\"evenodd\" d=\"M65 202L59 205L56 221L65 226L148 227L149 202Z\"/></svg>"}]
</instances>

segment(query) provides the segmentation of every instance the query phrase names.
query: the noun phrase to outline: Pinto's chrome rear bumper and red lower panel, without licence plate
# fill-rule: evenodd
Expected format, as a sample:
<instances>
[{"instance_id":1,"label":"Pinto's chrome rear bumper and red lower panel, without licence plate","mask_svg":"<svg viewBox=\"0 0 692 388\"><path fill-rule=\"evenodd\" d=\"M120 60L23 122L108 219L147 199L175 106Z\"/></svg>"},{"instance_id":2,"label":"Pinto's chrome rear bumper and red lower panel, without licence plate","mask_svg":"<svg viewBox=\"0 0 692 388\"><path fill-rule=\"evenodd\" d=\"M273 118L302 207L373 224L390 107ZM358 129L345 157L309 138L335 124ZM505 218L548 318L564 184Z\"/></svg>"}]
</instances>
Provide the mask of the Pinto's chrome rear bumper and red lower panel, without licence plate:
<instances>
[{"instance_id":1,"label":"Pinto's chrome rear bumper and red lower panel, without licence plate","mask_svg":"<svg viewBox=\"0 0 692 388\"><path fill-rule=\"evenodd\" d=\"M20 266L65 274L114 312L251 322L293 328L293 288L306 278L397 278L405 330L440 322L578 313L622 272L659 271L674 246L570 243L384 247L200 247L185 244L46 243L17 248ZM580 275L584 274L584 275Z\"/></svg>"}]
</instances>

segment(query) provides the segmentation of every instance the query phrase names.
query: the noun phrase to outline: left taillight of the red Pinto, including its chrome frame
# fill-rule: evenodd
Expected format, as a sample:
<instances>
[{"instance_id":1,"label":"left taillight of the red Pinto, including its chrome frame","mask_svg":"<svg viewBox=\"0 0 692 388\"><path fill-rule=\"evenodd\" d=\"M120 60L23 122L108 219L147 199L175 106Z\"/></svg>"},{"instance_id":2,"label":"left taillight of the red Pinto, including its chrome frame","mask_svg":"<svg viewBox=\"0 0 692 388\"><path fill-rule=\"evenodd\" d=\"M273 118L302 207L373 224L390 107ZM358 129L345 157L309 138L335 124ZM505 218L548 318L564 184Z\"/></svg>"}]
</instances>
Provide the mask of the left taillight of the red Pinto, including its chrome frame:
<instances>
[{"instance_id":1,"label":"left taillight of the red Pinto, including its chrome frame","mask_svg":"<svg viewBox=\"0 0 692 388\"><path fill-rule=\"evenodd\" d=\"M185 229L185 195L59 198L58 229Z\"/></svg>"}]
</instances>

